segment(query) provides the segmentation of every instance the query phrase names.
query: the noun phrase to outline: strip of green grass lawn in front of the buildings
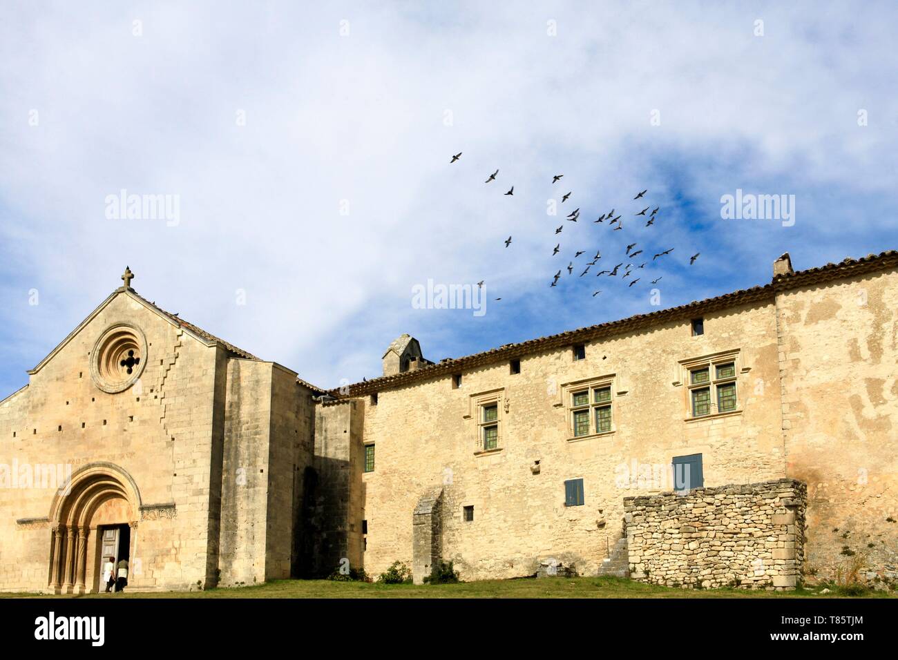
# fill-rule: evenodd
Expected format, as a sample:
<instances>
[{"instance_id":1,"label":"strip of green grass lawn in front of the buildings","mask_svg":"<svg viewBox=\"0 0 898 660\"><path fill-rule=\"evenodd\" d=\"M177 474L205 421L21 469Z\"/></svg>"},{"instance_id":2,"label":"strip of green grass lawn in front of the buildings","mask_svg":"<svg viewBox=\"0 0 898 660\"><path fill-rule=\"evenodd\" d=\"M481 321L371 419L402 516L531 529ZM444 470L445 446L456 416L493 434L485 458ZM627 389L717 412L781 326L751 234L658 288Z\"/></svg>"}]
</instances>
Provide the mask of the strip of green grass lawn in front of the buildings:
<instances>
[{"instance_id":1,"label":"strip of green grass lawn in front of the buildings","mask_svg":"<svg viewBox=\"0 0 898 660\"><path fill-rule=\"evenodd\" d=\"M0 594L13 598L842 598L835 591L820 594L823 587L793 592L745 589L676 589L644 585L619 577L546 577L516 580L483 580L457 585L378 585L329 580L277 580L264 585L210 589L196 592L87 594L42 596ZM894 592L871 592L865 598L894 598Z\"/></svg>"}]
</instances>

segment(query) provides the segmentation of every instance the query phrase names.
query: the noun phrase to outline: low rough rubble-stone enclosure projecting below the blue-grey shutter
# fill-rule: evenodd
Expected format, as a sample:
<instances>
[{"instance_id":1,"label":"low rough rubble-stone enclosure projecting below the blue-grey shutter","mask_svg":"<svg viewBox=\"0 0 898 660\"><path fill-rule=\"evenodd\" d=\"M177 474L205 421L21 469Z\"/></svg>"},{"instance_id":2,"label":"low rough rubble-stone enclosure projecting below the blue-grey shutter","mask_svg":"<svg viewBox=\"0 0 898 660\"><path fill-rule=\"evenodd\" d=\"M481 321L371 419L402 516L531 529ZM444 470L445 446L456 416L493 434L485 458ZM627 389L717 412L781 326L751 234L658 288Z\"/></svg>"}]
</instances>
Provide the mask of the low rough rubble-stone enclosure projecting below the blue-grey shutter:
<instances>
[{"instance_id":1,"label":"low rough rubble-stone enclosure projecting below the blue-grey shutter","mask_svg":"<svg viewBox=\"0 0 898 660\"><path fill-rule=\"evenodd\" d=\"M630 576L655 585L792 589L806 484L779 479L624 499Z\"/></svg>"}]
</instances>

